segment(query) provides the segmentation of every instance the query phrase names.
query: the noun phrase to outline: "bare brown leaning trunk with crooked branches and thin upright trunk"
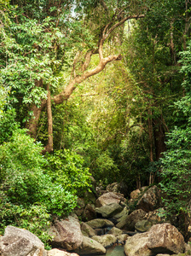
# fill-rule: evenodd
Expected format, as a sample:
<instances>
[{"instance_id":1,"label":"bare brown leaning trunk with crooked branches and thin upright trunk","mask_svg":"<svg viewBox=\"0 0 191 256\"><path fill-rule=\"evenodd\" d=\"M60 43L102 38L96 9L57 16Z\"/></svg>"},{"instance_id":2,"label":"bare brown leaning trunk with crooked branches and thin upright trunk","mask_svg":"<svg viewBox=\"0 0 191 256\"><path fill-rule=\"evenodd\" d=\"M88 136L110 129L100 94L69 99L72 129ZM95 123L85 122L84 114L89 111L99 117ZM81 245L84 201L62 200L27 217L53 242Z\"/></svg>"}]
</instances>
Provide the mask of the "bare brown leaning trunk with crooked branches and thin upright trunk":
<instances>
[{"instance_id":1,"label":"bare brown leaning trunk with crooked branches and thin upright trunk","mask_svg":"<svg viewBox=\"0 0 191 256\"><path fill-rule=\"evenodd\" d=\"M46 149L49 151L53 150L53 137L52 137L52 113L51 113L51 100L55 104L61 104L64 101L67 101L67 99L72 95L72 91L76 89L77 85L82 83L85 79L90 78L91 76L96 75L97 73L100 73L107 65L107 63L111 61L119 61L122 59L121 55L109 55L107 57L103 57L103 44L105 40L110 36L110 34L119 26L123 25L126 20L130 19L138 19L143 18L144 15L130 15L127 17L124 17L122 20L116 20L117 17L113 17L113 19L105 26L103 29L103 32L101 34L101 38L99 38L99 42L97 45L97 49L89 49L86 52L86 55L84 57L84 62L81 65L80 72L81 74L76 76L75 75L75 61L73 61L73 70L72 70L72 76L70 79L69 84L67 87L61 91L60 94L50 97L50 92L48 90L48 100L43 100L41 107L38 108L36 105L32 106L32 111L34 118L31 119L27 125L29 132L32 137L37 136L37 130L38 130L38 119L40 118L40 113L42 109L46 106L47 102L47 113L48 113L48 121L49 121L49 141L46 146ZM117 22L116 22L117 21ZM100 62L94 69L87 70L90 64L91 56L94 54L99 54ZM37 81L36 86L42 86L43 82Z\"/></svg>"}]
</instances>

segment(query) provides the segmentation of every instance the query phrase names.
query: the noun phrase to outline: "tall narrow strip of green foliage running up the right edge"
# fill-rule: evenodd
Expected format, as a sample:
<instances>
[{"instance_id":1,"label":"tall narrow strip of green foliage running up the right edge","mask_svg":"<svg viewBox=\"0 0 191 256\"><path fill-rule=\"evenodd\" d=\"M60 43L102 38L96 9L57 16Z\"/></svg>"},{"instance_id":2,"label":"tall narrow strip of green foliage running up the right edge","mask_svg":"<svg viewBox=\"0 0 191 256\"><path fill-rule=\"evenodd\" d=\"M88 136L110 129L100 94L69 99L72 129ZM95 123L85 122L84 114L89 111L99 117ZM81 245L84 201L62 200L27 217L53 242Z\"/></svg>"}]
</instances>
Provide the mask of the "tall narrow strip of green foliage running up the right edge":
<instances>
[{"instance_id":1,"label":"tall narrow strip of green foliage running up the right edge","mask_svg":"<svg viewBox=\"0 0 191 256\"><path fill-rule=\"evenodd\" d=\"M161 188L165 193L165 207L169 213L180 214L188 211L191 195L191 119L190 119L190 43L182 55L182 73L185 79L182 86L186 95L177 101L177 123L168 135L168 150L162 159L163 180Z\"/></svg>"}]
</instances>

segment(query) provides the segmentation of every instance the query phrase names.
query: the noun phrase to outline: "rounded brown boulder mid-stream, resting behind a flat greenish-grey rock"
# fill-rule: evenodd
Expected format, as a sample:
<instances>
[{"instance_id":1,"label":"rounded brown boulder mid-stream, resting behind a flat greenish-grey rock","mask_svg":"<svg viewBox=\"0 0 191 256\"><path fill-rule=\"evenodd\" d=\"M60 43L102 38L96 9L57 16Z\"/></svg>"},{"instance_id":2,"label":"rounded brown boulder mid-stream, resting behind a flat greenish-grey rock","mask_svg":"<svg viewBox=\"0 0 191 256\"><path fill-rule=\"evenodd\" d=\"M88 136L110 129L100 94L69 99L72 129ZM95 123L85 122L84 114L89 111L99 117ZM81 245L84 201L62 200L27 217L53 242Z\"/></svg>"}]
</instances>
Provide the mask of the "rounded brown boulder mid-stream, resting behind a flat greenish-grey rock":
<instances>
[{"instance_id":1,"label":"rounded brown boulder mid-stream, resting behind a flat greenish-grey rock","mask_svg":"<svg viewBox=\"0 0 191 256\"><path fill-rule=\"evenodd\" d=\"M119 202L124 202L124 201L125 201L124 195L119 193L108 192L106 194L101 195L96 200L96 207L103 207L112 203L119 204Z\"/></svg>"}]
</instances>

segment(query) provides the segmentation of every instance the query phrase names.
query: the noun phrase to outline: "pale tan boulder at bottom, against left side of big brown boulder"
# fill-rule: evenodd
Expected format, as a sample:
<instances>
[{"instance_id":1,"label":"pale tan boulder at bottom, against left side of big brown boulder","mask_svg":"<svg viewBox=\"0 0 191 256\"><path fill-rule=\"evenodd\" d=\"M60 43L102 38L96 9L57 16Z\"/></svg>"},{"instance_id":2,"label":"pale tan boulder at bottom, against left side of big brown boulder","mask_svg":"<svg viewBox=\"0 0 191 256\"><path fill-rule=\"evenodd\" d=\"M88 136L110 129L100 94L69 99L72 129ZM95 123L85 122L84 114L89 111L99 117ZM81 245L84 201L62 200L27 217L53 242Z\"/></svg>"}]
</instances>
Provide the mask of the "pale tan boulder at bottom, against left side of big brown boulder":
<instances>
[{"instance_id":1,"label":"pale tan boulder at bottom, against left side of big brown boulder","mask_svg":"<svg viewBox=\"0 0 191 256\"><path fill-rule=\"evenodd\" d=\"M151 256L153 253L148 248L148 232L130 236L124 245L126 256Z\"/></svg>"}]
</instances>

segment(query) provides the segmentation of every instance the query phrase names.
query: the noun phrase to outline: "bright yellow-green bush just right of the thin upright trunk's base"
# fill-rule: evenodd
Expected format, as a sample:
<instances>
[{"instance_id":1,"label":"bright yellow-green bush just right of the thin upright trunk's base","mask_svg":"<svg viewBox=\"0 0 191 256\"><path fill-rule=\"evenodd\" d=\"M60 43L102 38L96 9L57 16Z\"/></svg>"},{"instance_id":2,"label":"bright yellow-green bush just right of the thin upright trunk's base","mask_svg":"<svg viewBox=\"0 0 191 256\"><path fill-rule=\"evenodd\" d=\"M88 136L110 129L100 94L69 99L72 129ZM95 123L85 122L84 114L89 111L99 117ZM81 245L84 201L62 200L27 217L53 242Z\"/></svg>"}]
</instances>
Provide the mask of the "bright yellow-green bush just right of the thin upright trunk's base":
<instances>
[{"instance_id":1,"label":"bright yellow-green bush just right of the thin upright trunk's base","mask_svg":"<svg viewBox=\"0 0 191 256\"><path fill-rule=\"evenodd\" d=\"M59 183L72 195L83 195L90 187L89 168L83 166L84 160L69 149L57 150L46 155L49 166L47 173L53 183Z\"/></svg>"}]
</instances>

